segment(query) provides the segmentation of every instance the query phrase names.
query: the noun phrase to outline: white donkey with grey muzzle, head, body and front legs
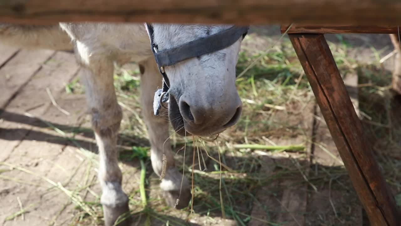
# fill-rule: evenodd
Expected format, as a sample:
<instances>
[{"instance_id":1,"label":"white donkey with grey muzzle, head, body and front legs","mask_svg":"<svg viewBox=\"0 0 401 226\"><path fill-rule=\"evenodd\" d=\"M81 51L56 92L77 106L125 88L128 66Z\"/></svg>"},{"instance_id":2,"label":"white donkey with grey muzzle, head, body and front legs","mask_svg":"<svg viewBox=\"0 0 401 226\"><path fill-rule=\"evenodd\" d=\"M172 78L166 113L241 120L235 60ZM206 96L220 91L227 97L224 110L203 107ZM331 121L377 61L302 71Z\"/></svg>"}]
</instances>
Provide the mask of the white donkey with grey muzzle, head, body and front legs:
<instances>
[{"instance_id":1,"label":"white donkey with grey muzzle, head, body and front legs","mask_svg":"<svg viewBox=\"0 0 401 226\"><path fill-rule=\"evenodd\" d=\"M154 24L154 39L159 50L168 49L227 29L229 26ZM101 203L107 226L128 211L128 197L122 191L122 173L117 165L117 133L122 110L113 86L113 63L138 62L141 69L141 102L151 144L152 166L156 174L162 169L162 155L167 170L160 184L170 205L178 198L181 173L174 166L168 140L168 122L153 114L154 91L162 76L150 49L143 24L60 23L54 26L17 26L0 24L0 42L55 50L74 49L83 68L87 105L99 147L99 181ZM241 39L226 49L166 67L170 92L178 104L190 105L193 121L183 120L185 131L197 136L217 134L233 125L241 101L235 89L235 64ZM170 106L170 110L171 110ZM181 108L181 107L180 107ZM179 109L182 113L182 109ZM198 114L198 116L195 115ZM164 112L166 115L166 112ZM190 116L192 117L192 116ZM236 117L236 116L234 116ZM185 118L185 117L184 117ZM173 120L173 119L172 119ZM165 143L164 143L165 142ZM164 144L164 147L163 147ZM163 152L164 150L164 152ZM185 178L177 208L188 205L190 187ZM128 224L128 220L123 224Z\"/></svg>"}]
</instances>

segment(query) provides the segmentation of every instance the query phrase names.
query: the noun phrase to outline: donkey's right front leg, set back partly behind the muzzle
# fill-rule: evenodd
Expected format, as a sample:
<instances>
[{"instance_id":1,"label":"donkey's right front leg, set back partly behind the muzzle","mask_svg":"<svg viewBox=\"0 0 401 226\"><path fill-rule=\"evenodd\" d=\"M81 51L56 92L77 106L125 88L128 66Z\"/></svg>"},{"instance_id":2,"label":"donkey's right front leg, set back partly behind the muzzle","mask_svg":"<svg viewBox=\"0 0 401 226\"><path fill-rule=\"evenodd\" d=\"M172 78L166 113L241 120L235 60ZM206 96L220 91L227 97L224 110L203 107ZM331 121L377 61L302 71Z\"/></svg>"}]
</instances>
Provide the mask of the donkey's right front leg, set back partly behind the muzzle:
<instances>
[{"instance_id":1,"label":"donkey's right front leg, set back partly behind the muzzle","mask_svg":"<svg viewBox=\"0 0 401 226\"><path fill-rule=\"evenodd\" d=\"M163 179L160 188L163 190L166 202L178 209L188 206L191 198L188 179L184 177L181 187L182 172L175 167L174 156L170 146L168 132L168 116L165 109L160 109L160 115L153 113L154 92L162 84L162 76L156 66L154 58L140 63L141 70L141 102L143 116L148 127L151 144L150 158L154 172L160 176L163 171ZM163 155L165 159L163 160ZM163 169L163 161L165 169ZM177 203L177 199L179 199ZM177 205L176 205L177 204Z\"/></svg>"}]
</instances>

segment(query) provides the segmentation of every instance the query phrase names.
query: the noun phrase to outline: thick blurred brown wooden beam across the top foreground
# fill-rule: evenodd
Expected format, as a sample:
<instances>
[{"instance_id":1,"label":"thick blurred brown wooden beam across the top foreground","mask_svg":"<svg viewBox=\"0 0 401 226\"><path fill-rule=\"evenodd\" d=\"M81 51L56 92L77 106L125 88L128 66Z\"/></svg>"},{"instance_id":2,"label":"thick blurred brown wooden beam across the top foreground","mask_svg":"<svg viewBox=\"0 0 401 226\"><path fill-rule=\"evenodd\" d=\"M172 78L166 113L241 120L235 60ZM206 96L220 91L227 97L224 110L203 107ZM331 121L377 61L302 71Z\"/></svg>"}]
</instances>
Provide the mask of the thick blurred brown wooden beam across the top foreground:
<instances>
[{"instance_id":1,"label":"thick blurred brown wooden beam across the top foreground","mask_svg":"<svg viewBox=\"0 0 401 226\"><path fill-rule=\"evenodd\" d=\"M0 0L2 23L58 21L399 25L395 0Z\"/></svg>"}]
</instances>

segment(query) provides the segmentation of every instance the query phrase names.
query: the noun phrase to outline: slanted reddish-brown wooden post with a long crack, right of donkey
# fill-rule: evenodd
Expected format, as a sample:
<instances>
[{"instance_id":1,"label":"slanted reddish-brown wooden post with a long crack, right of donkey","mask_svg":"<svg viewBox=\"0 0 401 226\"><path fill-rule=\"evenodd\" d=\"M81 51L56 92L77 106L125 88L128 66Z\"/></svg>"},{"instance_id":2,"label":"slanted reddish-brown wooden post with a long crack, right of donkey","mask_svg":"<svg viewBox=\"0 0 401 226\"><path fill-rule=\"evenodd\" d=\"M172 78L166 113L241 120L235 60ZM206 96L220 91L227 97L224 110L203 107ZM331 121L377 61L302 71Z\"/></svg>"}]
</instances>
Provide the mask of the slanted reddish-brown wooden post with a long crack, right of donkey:
<instances>
[{"instance_id":1,"label":"slanted reddish-brown wooden post with a long crack, right of donkey","mask_svg":"<svg viewBox=\"0 0 401 226\"><path fill-rule=\"evenodd\" d=\"M324 35L290 35L290 39L371 225L400 226L394 197L364 136Z\"/></svg>"}]
</instances>

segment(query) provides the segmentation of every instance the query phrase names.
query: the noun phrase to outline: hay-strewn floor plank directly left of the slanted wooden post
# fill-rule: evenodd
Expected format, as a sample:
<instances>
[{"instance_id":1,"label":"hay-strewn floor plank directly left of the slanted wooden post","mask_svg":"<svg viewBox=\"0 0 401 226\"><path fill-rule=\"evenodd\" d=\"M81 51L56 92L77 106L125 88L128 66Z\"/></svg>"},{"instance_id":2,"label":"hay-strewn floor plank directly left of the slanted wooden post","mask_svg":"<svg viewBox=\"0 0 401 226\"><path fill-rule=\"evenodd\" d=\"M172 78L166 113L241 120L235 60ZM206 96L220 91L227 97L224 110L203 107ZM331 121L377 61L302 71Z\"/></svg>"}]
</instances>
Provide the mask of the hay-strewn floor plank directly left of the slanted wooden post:
<instances>
[{"instance_id":1,"label":"hay-strewn floor plank directly left of the slanted wooden post","mask_svg":"<svg viewBox=\"0 0 401 226\"><path fill-rule=\"evenodd\" d=\"M311 164L314 166L310 171L310 177L323 176L325 183L315 182L317 191L310 189L305 216L306 225L362 226L363 207L358 197L355 197L353 192L347 192L343 187L339 189L340 182L337 181L337 176L329 175L330 168L337 168L344 164L317 106L314 119L314 147L311 158ZM340 181L342 182L341 179Z\"/></svg>"}]
</instances>

